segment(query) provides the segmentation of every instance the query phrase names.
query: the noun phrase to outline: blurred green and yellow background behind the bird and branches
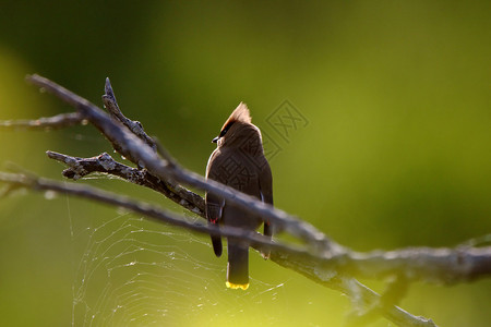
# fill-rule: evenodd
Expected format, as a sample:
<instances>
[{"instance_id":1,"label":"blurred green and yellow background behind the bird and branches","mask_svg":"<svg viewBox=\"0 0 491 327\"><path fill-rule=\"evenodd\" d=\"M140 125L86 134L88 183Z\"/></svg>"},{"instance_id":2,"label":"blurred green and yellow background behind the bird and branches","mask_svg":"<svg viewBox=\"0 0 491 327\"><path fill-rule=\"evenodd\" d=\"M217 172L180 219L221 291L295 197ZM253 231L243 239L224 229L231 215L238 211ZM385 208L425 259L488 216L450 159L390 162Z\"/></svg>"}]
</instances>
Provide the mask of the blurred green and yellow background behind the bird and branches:
<instances>
[{"instance_id":1,"label":"blurred green and yellow background behind the bird and branches","mask_svg":"<svg viewBox=\"0 0 491 327\"><path fill-rule=\"evenodd\" d=\"M359 251L453 246L491 232L490 12L489 1L1 1L0 119L72 110L26 74L98 105L109 76L123 112L204 173L211 140L246 101L280 148L277 207ZM287 141L267 123L285 100L308 120ZM2 170L58 180L45 150L111 153L91 126L1 131L0 147ZM182 213L118 180L80 183ZM50 197L0 201L2 326L339 326L350 310L256 253L250 290L227 291L207 238ZM402 306L488 326L490 301L490 280L417 283Z\"/></svg>"}]
</instances>

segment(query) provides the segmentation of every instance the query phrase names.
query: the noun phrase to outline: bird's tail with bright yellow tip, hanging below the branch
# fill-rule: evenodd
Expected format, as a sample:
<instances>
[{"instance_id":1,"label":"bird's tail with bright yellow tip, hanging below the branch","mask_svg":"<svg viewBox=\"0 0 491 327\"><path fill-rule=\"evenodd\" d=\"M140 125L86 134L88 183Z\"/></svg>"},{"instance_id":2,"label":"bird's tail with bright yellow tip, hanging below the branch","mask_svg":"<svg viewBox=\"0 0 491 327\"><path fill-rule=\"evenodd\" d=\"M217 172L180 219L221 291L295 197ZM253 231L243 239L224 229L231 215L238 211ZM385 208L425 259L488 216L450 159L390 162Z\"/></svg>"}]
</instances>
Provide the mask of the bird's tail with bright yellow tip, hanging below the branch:
<instances>
[{"instance_id":1,"label":"bird's tail with bright yellow tip, hanging below the branch","mask_svg":"<svg viewBox=\"0 0 491 327\"><path fill-rule=\"evenodd\" d=\"M227 287L249 288L249 246L228 241Z\"/></svg>"}]
</instances>

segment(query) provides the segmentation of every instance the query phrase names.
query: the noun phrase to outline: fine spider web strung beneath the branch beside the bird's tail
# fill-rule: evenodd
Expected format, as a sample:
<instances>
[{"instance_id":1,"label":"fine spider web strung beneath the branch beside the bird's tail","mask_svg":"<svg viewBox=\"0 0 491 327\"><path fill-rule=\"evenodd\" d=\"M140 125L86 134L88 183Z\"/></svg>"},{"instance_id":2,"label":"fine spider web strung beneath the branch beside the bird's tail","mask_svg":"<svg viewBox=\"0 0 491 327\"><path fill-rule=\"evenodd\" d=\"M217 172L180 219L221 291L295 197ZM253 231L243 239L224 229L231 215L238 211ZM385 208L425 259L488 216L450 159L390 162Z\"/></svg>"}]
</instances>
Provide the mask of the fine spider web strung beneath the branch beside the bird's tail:
<instances>
[{"instance_id":1,"label":"fine spider web strung beneath the branch beside the bird's tail","mask_svg":"<svg viewBox=\"0 0 491 327\"><path fill-rule=\"evenodd\" d=\"M277 323L262 303L280 302L284 284L252 276L248 291L226 289L226 253L215 258L205 237L121 214L73 242L85 246L74 258L72 326Z\"/></svg>"}]
</instances>

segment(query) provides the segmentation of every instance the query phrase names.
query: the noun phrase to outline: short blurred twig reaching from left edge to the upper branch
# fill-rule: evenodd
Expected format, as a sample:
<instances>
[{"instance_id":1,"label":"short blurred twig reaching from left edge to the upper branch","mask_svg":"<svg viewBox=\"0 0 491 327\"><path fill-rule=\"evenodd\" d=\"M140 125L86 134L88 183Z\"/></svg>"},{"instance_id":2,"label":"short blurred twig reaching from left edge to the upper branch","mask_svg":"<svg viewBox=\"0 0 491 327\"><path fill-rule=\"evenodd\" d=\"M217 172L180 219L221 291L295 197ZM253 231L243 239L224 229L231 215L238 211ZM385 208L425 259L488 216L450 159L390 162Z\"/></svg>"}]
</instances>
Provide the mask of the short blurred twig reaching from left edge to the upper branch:
<instances>
[{"instance_id":1,"label":"short blurred twig reaching from left edge to the upper branch","mask_svg":"<svg viewBox=\"0 0 491 327\"><path fill-rule=\"evenodd\" d=\"M0 130L58 130L79 124L86 124L80 112L60 113L53 117L41 117L35 120L2 120Z\"/></svg>"}]
</instances>

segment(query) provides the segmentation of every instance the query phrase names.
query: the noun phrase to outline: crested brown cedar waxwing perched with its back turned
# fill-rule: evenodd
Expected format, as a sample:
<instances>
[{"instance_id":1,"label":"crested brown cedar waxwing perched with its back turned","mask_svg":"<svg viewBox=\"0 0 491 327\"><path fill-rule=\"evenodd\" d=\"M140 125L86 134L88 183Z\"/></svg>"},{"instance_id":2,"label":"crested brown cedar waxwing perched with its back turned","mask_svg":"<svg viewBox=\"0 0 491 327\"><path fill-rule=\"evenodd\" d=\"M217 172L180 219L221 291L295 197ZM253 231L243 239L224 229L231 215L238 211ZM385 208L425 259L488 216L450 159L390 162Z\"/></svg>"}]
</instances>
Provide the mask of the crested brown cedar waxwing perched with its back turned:
<instances>
[{"instance_id":1,"label":"crested brown cedar waxwing perched with its back turned","mask_svg":"<svg viewBox=\"0 0 491 327\"><path fill-rule=\"evenodd\" d=\"M246 104L240 102L225 122L217 137L217 148L209 156L206 179L231 186L242 193L273 205L273 178L264 156L260 130L251 123ZM206 193L206 218L208 223L225 225L255 231L263 220L246 213L223 198ZM264 234L273 233L270 222L264 223ZM212 237L216 256L221 255L221 238ZM226 286L247 290L249 287L249 246L227 240L228 265ZM268 254L263 254L267 257Z\"/></svg>"}]
</instances>

